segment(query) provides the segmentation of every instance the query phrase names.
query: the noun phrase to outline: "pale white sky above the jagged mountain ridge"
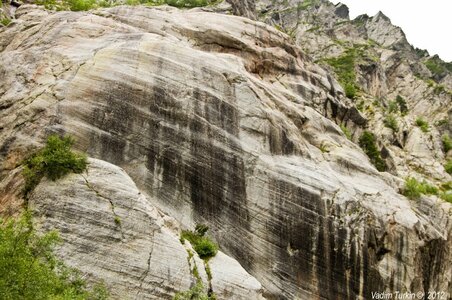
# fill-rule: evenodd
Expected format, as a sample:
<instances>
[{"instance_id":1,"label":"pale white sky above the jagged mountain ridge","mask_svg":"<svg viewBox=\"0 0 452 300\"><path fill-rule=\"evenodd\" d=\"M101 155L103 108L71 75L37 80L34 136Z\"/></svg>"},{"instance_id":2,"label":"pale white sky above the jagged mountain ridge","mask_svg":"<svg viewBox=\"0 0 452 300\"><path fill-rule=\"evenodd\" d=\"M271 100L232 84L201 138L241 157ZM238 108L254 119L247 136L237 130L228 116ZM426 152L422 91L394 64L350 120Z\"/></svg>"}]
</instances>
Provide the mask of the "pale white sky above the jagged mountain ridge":
<instances>
[{"instance_id":1,"label":"pale white sky above the jagged mountain ridge","mask_svg":"<svg viewBox=\"0 0 452 300\"><path fill-rule=\"evenodd\" d=\"M382 11L402 28L408 42L452 61L452 0L336 0L350 9L350 18Z\"/></svg>"}]
</instances>

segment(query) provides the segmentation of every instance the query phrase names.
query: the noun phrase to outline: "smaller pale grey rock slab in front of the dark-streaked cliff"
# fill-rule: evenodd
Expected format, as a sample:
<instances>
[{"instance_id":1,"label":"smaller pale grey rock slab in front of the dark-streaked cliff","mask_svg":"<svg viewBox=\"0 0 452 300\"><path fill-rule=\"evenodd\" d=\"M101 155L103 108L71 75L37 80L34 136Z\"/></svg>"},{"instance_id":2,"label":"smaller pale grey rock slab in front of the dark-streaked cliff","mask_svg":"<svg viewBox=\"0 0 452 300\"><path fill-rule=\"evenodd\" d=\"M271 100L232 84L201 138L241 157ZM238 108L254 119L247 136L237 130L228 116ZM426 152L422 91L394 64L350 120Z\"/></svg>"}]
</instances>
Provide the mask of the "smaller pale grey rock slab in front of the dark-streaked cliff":
<instances>
[{"instance_id":1,"label":"smaller pale grey rock slab in front of the dark-streaked cliff","mask_svg":"<svg viewBox=\"0 0 452 300\"><path fill-rule=\"evenodd\" d=\"M113 299L172 299L196 281L168 217L114 165L90 160L84 174L42 182L29 204L41 230L60 232L58 255L91 281L104 280ZM207 287L204 263L195 263ZM210 264L218 299L263 299L261 284L234 259L220 252Z\"/></svg>"}]
</instances>

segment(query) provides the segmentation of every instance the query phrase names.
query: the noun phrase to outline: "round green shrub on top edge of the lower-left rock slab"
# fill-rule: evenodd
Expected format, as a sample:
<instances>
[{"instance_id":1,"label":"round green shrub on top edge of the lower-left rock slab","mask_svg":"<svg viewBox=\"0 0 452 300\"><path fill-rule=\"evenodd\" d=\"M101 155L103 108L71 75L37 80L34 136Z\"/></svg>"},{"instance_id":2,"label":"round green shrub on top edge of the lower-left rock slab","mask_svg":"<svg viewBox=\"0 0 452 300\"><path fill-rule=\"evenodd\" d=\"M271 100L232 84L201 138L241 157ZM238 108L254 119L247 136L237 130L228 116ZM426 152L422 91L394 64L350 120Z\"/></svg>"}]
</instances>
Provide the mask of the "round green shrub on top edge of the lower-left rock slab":
<instances>
[{"instance_id":1,"label":"round green shrub on top edge of the lower-left rock slab","mask_svg":"<svg viewBox=\"0 0 452 300\"><path fill-rule=\"evenodd\" d=\"M70 137L52 135L42 150L24 161L25 197L44 176L55 181L70 172L82 173L86 169L86 156L73 152L73 144Z\"/></svg>"}]
</instances>

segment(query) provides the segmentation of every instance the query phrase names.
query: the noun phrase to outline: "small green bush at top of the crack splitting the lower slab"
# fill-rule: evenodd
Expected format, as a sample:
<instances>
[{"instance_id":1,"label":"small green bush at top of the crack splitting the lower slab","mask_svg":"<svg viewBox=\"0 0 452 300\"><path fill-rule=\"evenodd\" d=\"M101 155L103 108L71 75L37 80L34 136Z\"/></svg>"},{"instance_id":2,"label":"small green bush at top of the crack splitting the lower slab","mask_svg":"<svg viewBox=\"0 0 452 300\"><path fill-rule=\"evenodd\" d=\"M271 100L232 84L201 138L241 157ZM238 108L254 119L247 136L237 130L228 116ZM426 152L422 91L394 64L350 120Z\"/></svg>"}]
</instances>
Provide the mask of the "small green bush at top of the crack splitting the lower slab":
<instances>
[{"instance_id":1,"label":"small green bush at top of the crack splitting the lower slab","mask_svg":"<svg viewBox=\"0 0 452 300\"><path fill-rule=\"evenodd\" d=\"M218 246L205 236L208 229L205 225L196 225L195 232L184 230L181 234L181 239L189 241L202 259L209 259L218 252Z\"/></svg>"}]
</instances>

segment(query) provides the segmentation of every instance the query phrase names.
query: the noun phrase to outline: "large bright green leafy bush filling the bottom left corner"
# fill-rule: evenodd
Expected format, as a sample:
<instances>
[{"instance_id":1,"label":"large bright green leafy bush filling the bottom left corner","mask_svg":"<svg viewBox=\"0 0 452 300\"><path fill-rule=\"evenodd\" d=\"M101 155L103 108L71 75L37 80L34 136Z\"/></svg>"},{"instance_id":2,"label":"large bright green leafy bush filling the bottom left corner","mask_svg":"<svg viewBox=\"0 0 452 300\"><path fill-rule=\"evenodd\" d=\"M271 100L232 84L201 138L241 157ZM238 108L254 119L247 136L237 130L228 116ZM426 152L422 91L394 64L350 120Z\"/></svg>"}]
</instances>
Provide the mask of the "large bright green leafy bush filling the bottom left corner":
<instances>
[{"instance_id":1,"label":"large bright green leafy bush filling the bottom left corner","mask_svg":"<svg viewBox=\"0 0 452 300\"><path fill-rule=\"evenodd\" d=\"M0 220L0 295L2 299L107 299L102 285L86 289L79 273L53 254L54 231L38 235L31 214Z\"/></svg>"}]
</instances>

